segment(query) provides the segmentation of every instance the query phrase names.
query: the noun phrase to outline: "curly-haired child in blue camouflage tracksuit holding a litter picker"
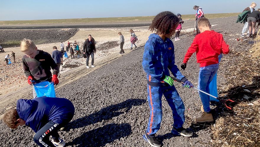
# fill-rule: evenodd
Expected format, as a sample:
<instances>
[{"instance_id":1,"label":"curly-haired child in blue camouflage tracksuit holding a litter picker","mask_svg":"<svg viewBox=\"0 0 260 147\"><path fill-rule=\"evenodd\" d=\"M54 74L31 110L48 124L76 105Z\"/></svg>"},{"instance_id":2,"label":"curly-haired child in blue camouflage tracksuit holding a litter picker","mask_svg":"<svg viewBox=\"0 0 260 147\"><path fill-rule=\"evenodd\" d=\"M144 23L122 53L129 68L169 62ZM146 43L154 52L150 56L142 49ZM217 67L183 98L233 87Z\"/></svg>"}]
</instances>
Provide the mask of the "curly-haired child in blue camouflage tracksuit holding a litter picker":
<instances>
[{"instance_id":1,"label":"curly-haired child in blue camouflage tracksuit holding a litter picker","mask_svg":"<svg viewBox=\"0 0 260 147\"><path fill-rule=\"evenodd\" d=\"M143 138L151 146L161 146L155 137L160 129L162 121L162 96L164 95L173 113L173 129L175 135L192 136L193 133L183 128L185 121L184 104L176 88L173 86L173 79L170 72L177 79L184 82L183 86L193 86L179 71L175 65L174 46L170 37L178 27L179 18L172 12L159 13L152 21L149 30L156 33L149 36L144 46L142 66L147 73L148 103L150 106L150 118L147 130Z\"/></svg>"}]
</instances>

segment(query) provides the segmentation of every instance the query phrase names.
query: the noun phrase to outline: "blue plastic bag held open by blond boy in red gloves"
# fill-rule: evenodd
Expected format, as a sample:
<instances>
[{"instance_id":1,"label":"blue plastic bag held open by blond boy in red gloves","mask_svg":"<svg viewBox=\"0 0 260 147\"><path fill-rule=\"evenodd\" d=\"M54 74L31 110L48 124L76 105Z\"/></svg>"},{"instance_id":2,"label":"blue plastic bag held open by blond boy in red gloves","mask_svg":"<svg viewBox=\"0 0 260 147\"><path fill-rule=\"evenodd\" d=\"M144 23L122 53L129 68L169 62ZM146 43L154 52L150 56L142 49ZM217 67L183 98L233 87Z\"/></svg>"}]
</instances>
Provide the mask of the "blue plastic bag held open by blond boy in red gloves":
<instances>
[{"instance_id":1,"label":"blue plastic bag held open by blond boy in red gloves","mask_svg":"<svg viewBox=\"0 0 260 147\"><path fill-rule=\"evenodd\" d=\"M47 96L55 98L55 89L54 89L54 83L53 82L41 82L33 84L33 87L36 91L37 97Z\"/></svg>"}]
</instances>

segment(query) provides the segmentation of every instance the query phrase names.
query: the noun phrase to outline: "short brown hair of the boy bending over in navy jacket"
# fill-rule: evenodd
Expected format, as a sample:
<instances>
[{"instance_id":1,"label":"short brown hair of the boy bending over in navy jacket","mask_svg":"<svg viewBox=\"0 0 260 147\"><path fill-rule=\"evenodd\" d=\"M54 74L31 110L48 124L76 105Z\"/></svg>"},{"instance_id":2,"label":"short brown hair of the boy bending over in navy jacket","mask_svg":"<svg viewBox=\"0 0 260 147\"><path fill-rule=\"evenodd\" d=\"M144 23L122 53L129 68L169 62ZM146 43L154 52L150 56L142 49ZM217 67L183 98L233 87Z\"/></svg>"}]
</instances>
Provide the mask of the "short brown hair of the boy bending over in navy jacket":
<instances>
[{"instance_id":1,"label":"short brown hair of the boy bending over in navy jacket","mask_svg":"<svg viewBox=\"0 0 260 147\"><path fill-rule=\"evenodd\" d=\"M4 113L3 121L10 128L17 128L17 119L19 119L19 115L16 109L12 108Z\"/></svg>"}]
</instances>

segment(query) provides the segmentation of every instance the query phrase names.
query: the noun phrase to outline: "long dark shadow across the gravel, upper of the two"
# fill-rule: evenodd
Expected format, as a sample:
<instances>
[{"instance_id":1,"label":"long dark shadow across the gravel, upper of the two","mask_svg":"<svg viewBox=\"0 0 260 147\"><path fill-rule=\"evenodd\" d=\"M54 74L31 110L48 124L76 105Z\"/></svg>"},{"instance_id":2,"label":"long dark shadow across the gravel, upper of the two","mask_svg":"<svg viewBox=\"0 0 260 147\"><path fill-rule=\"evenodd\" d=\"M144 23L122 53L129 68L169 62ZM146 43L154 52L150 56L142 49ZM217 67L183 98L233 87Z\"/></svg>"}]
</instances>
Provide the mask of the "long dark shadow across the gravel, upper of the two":
<instances>
[{"instance_id":1,"label":"long dark shadow across the gravel, upper of the two","mask_svg":"<svg viewBox=\"0 0 260 147\"><path fill-rule=\"evenodd\" d=\"M85 116L82 118L78 118L74 121L71 121L68 124L68 127L66 128L66 131L69 131L71 128L81 128L84 126L88 126L90 124L94 124L97 122L101 122L103 120L109 120L113 117L119 116L120 114L123 114L124 112L128 112L132 106L139 106L146 102L146 100L143 99L128 99L122 103L118 103L116 105L111 105L106 108L101 109L98 112L92 113L89 116ZM119 111L121 109L126 108L124 112Z\"/></svg>"}]
</instances>

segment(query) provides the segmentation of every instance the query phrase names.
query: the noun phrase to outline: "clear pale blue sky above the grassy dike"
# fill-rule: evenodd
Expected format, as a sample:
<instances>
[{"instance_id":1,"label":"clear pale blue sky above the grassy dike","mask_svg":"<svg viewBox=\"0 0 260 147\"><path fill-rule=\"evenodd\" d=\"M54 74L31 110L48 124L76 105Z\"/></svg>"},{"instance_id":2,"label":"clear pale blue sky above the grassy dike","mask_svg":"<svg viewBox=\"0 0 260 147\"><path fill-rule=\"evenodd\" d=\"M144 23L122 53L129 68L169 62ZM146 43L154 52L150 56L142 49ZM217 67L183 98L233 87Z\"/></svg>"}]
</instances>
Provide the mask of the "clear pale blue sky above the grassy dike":
<instances>
[{"instance_id":1,"label":"clear pale blue sky above the grassy dike","mask_svg":"<svg viewBox=\"0 0 260 147\"><path fill-rule=\"evenodd\" d=\"M196 14L241 12L249 0L0 0L0 20L155 16L161 11ZM259 2L260 3L260 2ZM256 1L257 4L257 1ZM256 8L260 8L256 6Z\"/></svg>"}]
</instances>

